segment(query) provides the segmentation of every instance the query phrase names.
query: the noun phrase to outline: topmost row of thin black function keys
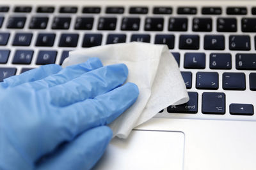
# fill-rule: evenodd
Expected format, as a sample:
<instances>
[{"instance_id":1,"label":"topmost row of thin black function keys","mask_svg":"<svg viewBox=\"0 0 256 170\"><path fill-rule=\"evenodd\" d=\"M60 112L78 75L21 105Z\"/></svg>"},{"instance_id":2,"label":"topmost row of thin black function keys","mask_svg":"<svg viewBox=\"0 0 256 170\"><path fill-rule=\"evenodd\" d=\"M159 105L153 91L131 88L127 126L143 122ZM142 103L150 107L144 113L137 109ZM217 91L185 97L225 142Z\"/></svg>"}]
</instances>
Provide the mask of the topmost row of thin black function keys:
<instances>
[{"instance_id":1,"label":"topmost row of thin black function keys","mask_svg":"<svg viewBox=\"0 0 256 170\"><path fill-rule=\"evenodd\" d=\"M8 12L10 10L9 6L0 6L0 12ZM37 13L53 13L55 10L54 6L38 6L36 8ZM105 13L111 14L122 14L124 13L124 6L107 6ZM13 9L16 13L30 13L32 11L31 6L15 6ZM77 13L78 8L76 6L60 6L60 13ZM83 7L82 13L100 13L100 6L86 6ZM256 15L256 8L252 7L252 15ZM154 14L172 14L172 6L156 6L153 8ZM177 14L180 15L195 15L198 9L193 6L183 6L177 8ZM130 14L147 14L147 6L131 6L129 8ZM202 8L203 15L221 15L221 7L210 7L205 6ZM230 6L226 8L227 15L246 15L248 10L244 6Z\"/></svg>"}]
</instances>

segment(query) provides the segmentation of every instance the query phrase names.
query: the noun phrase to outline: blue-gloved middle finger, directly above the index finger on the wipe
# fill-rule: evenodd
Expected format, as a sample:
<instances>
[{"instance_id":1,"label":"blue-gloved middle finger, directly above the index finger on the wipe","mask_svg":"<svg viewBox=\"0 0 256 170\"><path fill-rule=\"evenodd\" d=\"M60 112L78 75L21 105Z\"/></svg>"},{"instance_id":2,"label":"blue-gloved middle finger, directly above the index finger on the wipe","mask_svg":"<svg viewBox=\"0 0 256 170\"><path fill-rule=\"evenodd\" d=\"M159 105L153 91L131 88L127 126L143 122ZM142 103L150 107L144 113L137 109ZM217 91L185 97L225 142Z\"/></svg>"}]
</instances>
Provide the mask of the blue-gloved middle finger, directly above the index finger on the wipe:
<instances>
[{"instance_id":1,"label":"blue-gloved middle finger, directly above the index finger on the wipe","mask_svg":"<svg viewBox=\"0 0 256 170\"><path fill-rule=\"evenodd\" d=\"M85 99L94 98L122 85L127 79L125 64L113 64L85 73L72 81L50 89L51 103L67 106Z\"/></svg>"}]
</instances>

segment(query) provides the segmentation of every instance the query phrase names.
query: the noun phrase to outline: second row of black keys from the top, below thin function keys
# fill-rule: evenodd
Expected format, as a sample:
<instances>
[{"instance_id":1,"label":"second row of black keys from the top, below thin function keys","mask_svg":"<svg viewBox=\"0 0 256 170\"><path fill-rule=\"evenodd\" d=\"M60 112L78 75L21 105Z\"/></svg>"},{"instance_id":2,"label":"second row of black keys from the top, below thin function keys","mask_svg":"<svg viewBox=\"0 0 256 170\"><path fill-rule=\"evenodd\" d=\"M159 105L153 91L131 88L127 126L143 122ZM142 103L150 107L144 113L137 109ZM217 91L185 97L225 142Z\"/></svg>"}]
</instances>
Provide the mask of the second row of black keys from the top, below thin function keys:
<instances>
[{"instance_id":1,"label":"second row of black keys from the top, below thin function keys","mask_svg":"<svg viewBox=\"0 0 256 170\"><path fill-rule=\"evenodd\" d=\"M4 17L0 17L0 27L3 24ZM122 31L138 31L140 29L139 17L122 18ZM48 17L31 17L29 29L46 29ZM71 17L54 17L51 29L69 29ZM93 17L77 17L74 29L91 30L93 28ZM98 30L115 30L116 17L100 17L97 25ZM26 24L26 17L10 17L6 27L9 29L23 29ZM147 17L145 18L145 31L163 31L164 18ZM241 29L243 32L256 32L256 18L242 18ZM192 30L194 32L211 32L212 18L193 18ZM170 17L168 20L168 31L188 31L188 18ZM236 18L218 18L218 32L236 32Z\"/></svg>"}]
</instances>

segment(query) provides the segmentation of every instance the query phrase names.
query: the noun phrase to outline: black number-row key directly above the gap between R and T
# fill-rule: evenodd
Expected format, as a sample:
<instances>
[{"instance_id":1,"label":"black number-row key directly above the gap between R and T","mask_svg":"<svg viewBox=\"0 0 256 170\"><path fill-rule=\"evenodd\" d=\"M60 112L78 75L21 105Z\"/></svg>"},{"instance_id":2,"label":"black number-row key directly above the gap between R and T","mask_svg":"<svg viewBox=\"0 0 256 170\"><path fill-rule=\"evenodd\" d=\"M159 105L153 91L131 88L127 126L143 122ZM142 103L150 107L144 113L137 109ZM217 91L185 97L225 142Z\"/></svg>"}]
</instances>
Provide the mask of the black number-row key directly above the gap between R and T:
<instances>
[{"instance_id":1,"label":"black number-row key directly above the gap between R and T","mask_svg":"<svg viewBox=\"0 0 256 170\"><path fill-rule=\"evenodd\" d=\"M91 30L93 27L93 17L77 17L75 29Z\"/></svg>"}]
</instances>

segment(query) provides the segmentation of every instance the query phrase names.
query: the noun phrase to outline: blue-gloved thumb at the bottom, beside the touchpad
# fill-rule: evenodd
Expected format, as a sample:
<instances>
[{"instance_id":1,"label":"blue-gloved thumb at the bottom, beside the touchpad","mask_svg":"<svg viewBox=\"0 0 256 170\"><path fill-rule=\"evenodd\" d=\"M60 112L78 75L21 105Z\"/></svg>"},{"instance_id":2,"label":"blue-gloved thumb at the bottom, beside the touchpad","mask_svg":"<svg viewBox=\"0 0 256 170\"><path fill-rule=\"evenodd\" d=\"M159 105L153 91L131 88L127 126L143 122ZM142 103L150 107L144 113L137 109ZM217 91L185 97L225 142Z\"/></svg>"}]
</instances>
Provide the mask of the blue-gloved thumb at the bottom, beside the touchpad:
<instances>
[{"instance_id":1,"label":"blue-gloved thumb at the bottom, beside the touchpad","mask_svg":"<svg viewBox=\"0 0 256 170\"><path fill-rule=\"evenodd\" d=\"M92 169L103 155L111 138L112 131L109 127L90 129L40 162L36 170Z\"/></svg>"}]
</instances>

